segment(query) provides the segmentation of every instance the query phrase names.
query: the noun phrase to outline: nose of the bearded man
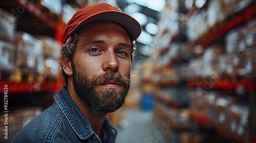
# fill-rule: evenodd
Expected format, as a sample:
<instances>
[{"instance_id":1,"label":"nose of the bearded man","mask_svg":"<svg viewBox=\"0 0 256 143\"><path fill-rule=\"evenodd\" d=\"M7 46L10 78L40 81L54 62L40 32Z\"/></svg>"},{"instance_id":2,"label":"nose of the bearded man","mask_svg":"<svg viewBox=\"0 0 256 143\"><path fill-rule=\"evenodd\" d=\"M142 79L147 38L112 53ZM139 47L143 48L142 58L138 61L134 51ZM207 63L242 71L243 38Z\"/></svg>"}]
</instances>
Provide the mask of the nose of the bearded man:
<instances>
[{"instance_id":1,"label":"nose of the bearded man","mask_svg":"<svg viewBox=\"0 0 256 143\"><path fill-rule=\"evenodd\" d=\"M104 71L115 71L119 67L118 59L114 51L108 51L104 55L102 69Z\"/></svg>"}]
</instances>

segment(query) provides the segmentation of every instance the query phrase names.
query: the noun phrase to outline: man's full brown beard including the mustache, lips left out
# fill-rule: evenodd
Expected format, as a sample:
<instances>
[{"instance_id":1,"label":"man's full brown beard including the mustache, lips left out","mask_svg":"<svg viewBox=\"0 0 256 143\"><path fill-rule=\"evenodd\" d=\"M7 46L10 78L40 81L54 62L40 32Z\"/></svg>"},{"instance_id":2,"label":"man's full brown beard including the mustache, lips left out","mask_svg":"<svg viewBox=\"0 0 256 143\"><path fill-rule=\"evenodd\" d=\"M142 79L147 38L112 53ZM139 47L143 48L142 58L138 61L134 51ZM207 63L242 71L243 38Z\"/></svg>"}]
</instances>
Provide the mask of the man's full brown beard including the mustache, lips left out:
<instances>
[{"instance_id":1,"label":"man's full brown beard including the mustache, lips left out","mask_svg":"<svg viewBox=\"0 0 256 143\"><path fill-rule=\"evenodd\" d=\"M104 116L119 109L125 100L126 94L130 87L130 72L127 78L113 71L89 78L86 73L77 71L75 65L72 65L73 85L77 96L86 104L91 113ZM118 89L103 88L96 90L96 86L109 80L115 80L120 83Z\"/></svg>"}]
</instances>

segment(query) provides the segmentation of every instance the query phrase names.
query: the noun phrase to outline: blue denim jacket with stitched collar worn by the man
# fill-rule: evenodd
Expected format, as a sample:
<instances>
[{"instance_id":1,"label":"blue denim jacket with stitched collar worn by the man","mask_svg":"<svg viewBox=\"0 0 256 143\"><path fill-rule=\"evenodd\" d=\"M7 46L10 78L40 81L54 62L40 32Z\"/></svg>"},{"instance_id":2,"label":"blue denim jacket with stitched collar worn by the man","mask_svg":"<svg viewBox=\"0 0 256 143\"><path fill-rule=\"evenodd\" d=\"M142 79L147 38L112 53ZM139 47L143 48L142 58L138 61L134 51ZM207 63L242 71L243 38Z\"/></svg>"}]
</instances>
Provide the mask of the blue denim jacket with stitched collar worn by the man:
<instances>
[{"instance_id":1,"label":"blue denim jacket with stitched collar worn by the man","mask_svg":"<svg viewBox=\"0 0 256 143\"><path fill-rule=\"evenodd\" d=\"M52 106L36 116L10 142L101 142L71 99L66 86L61 87L54 99ZM115 142L117 130L107 118L104 119L102 131L102 142Z\"/></svg>"}]
</instances>

